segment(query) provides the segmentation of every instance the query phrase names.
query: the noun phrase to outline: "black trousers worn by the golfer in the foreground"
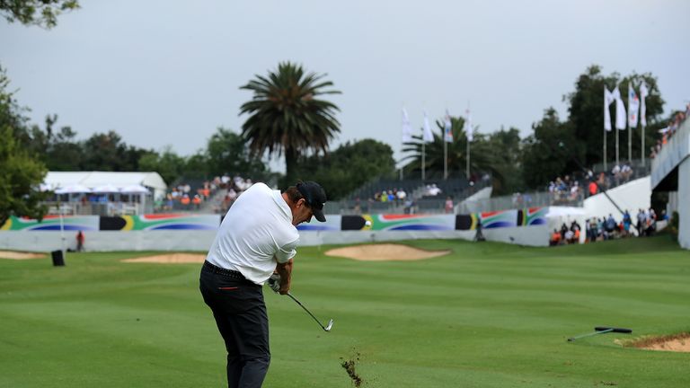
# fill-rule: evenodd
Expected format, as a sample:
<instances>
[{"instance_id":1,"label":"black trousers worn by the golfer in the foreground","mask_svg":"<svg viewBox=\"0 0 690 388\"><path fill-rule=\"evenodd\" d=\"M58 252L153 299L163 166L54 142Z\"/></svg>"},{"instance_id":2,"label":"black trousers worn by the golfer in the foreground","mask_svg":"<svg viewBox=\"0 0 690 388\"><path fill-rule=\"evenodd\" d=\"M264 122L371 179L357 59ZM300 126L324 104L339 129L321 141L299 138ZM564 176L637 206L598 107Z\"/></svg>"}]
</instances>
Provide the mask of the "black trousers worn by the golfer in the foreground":
<instances>
[{"instance_id":1,"label":"black trousers worn by the golfer in the foreground","mask_svg":"<svg viewBox=\"0 0 690 388\"><path fill-rule=\"evenodd\" d=\"M227 386L258 388L269 370L269 317L261 286L204 263L199 289L226 342Z\"/></svg>"}]
</instances>

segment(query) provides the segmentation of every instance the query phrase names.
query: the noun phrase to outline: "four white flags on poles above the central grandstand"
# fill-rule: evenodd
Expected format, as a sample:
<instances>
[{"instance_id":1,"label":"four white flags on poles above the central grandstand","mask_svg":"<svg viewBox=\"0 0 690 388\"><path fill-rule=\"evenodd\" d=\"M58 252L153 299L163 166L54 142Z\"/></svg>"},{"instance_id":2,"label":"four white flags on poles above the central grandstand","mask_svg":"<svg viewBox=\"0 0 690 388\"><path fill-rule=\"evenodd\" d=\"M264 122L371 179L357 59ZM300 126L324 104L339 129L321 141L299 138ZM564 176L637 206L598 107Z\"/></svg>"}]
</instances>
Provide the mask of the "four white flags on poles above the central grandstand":
<instances>
[{"instance_id":1,"label":"four white flags on poles above the central grandstand","mask_svg":"<svg viewBox=\"0 0 690 388\"><path fill-rule=\"evenodd\" d=\"M464 117L464 133L467 136L467 158L465 165L465 174L467 179L470 179L470 142L473 141L473 127L472 116L470 115L469 107L465 110ZM443 179L448 178L448 143L453 143L453 130L450 121L450 113L446 110L446 116L443 119ZM410 117L407 115L407 110L403 108L403 144L412 141L412 126ZM424 111L424 122L421 127L421 180L426 179L426 144L434 141L434 135L431 132L429 125L429 116Z\"/></svg>"}]
</instances>

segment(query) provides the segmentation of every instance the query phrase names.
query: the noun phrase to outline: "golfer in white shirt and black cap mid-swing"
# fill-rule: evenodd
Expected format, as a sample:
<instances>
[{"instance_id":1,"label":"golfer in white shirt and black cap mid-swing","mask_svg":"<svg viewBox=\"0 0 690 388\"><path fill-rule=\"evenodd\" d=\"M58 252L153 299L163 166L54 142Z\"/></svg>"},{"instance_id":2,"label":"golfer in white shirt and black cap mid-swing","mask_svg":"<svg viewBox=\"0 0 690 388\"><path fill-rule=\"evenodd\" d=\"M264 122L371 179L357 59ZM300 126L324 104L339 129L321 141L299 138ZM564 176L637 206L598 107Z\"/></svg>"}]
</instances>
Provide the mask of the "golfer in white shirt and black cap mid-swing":
<instances>
[{"instance_id":1,"label":"golfer in white shirt and black cap mid-swing","mask_svg":"<svg viewBox=\"0 0 690 388\"><path fill-rule=\"evenodd\" d=\"M326 194L314 181L285 192L255 183L234 201L201 269L199 288L226 342L227 386L261 387L269 369L269 318L261 286L279 274L288 294L299 240L296 225L324 222Z\"/></svg>"}]
</instances>

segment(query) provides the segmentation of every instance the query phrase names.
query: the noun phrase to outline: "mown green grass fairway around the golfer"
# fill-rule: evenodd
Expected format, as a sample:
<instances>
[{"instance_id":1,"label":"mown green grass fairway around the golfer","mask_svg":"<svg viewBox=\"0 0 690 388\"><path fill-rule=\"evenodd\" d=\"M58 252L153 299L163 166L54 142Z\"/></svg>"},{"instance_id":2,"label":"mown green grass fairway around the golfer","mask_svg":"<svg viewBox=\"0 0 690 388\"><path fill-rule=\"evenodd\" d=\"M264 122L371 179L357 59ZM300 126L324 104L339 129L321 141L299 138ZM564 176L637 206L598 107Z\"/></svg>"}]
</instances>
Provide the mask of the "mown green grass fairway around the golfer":
<instances>
[{"instance_id":1,"label":"mown green grass fairway around the golfer","mask_svg":"<svg viewBox=\"0 0 690 388\"><path fill-rule=\"evenodd\" d=\"M298 250L292 293L264 288L267 387L688 387L690 354L616 340L690 331L690 252L668 236L559 248L414 241L453 253L363 262ZM153 253L153 252L149 252ZM222 387L200 264L142 253L0 260L0 387ZM609 333L567 342L595 326Z\"/></svg>"}]
</instances>

